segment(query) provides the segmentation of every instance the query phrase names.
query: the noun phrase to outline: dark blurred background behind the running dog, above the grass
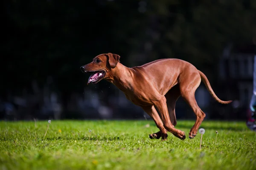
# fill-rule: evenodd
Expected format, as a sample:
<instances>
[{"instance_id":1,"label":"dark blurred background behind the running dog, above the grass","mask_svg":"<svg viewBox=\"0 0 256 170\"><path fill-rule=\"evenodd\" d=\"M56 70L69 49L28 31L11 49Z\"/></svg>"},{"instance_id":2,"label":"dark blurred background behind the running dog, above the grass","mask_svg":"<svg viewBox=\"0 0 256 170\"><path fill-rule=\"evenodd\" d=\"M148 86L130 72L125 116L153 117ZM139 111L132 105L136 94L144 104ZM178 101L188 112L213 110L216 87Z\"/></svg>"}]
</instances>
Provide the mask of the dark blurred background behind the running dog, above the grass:
<instances>
[{"instance_id":1,"label":"dark blurred background behind the running dog, above the grass","mask_svg":"<svg viewBox=\"0 0 256 170\"><path fill-rule=\"evenodd\" d=\"M253 95L255 0L4 0L0 119L144 119L108 81L80 66L102 53L125 66L179 58L207 75L196 91L205 119L245 120ZM179 98L177 119L195 119Z\"/></svg>"}]
</instances>

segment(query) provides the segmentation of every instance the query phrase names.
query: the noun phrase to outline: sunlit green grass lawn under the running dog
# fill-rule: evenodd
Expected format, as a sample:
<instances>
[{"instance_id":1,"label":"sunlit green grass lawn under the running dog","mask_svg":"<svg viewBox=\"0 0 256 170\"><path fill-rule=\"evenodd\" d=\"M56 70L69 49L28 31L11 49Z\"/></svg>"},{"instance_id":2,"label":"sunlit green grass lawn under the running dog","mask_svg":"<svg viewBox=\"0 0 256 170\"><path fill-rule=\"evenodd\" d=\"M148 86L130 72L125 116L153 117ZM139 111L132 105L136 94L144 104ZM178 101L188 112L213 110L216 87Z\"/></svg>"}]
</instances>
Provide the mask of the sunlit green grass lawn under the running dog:
<instances>
[{"instance_id":1,"label":"sunlit green grass lawn under the running dog","mask_svg":"<svg viewBox=\"0 0 256 170\"><path fill-rule=\"evenodd\" d=\"M204 121L201 134L188 138L195 121L177 121L184 141L150 139L154 121L0 122L2 170L255 170L256 133L245 122ZM150 124L149 127L145 127ZM92 130L89 133L88 130ZM215 142L218 131L217 143Z\"/></svg>"}]
</instances>

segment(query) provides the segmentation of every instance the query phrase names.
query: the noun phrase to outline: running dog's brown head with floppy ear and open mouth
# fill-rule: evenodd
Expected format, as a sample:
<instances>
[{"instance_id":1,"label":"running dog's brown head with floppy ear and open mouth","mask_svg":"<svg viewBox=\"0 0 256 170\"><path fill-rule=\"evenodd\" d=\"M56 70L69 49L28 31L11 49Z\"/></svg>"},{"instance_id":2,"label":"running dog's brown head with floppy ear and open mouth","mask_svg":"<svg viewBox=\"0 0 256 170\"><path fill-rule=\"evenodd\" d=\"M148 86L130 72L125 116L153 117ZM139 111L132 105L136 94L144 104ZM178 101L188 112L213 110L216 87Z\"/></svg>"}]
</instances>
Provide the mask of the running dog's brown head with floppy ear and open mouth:
<instances>
[{"instance_id":1,"label":"running dog's brown head with floppy ear and open mouth","mask_svg":"<svg viewBox=\"0 0 256 170\"><path fill-rule=\"evenodd\" d=\"M102 79L109 78L111 76L111 70L116 67L119 58L120 56L117 54L101 54L93 58L91 63L81 66L80 69L82 72L93 73L87 84L96 84Z\"/></svg>"}]
</instances>

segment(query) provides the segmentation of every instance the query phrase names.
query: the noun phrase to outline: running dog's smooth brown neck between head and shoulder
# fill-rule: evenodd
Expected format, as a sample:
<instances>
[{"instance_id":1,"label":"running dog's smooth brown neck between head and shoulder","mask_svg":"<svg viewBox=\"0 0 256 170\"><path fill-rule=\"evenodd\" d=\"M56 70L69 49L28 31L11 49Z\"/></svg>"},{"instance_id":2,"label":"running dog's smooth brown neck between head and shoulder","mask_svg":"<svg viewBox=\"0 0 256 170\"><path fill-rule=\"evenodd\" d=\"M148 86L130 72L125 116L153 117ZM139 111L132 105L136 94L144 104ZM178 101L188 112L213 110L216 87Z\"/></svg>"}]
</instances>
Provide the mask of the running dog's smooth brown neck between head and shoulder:
<instances>
[{"instance_id":1,"label":"running dog's smooth brown neck between head and shoulder","mask_svg":"<svg viewBox=\"0 0 256 170\"><path fill-rule=\"evenodd\" d=\"M134 69L128 68L119 62L114 69L111 69L111 77L108 81L126 93L133 90L133 77Z\"/></svg>"}]
</instances>

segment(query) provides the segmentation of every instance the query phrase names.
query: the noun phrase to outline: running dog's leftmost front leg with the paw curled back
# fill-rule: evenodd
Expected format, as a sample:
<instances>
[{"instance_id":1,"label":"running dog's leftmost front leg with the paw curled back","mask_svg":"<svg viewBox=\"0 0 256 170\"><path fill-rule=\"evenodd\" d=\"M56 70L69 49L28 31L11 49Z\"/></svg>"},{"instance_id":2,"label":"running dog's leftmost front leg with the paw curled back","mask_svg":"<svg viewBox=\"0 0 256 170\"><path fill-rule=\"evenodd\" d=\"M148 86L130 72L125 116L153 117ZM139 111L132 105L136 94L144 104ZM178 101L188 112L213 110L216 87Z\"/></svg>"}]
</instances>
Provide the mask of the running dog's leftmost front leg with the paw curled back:
<instances>
[{"instance_id":1,"label":"running dog's leftmost front leg with the paw curled back","mask_svg":"<svg viewBox=\"0 0 256 170\"><path fill-rule=\"evenodd\" d=\"M160 133L157 133L155 136L152 136L152 138L160 138L161 136L162 140L167 140L167 137L168 137L167 131L164 128L163 122L160 116L158 115L157 110L154 108L154 106L148 106L148 107L142 107L142 108L148 115L150 115L150 117L154 120L155 124L160 130Z\"/></svg>"}]
</instances>

